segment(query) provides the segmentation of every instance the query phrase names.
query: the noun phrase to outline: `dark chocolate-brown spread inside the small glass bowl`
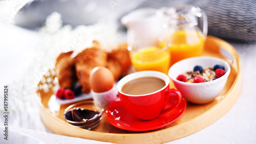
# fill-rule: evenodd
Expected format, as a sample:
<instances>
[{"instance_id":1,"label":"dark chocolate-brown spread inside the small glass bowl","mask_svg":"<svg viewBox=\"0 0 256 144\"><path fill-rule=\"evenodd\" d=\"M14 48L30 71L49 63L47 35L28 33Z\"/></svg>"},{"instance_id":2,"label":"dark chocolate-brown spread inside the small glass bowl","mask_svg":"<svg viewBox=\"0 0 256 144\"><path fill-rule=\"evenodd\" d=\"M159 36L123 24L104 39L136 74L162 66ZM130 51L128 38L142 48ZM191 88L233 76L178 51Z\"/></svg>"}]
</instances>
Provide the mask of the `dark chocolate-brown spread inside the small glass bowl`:
<instances>
[{"instance_id":1,"label":"dark chocolate-brown spread inside the small glass bowl","mask_svg":"<svg viewBox=\"0 0 256 144\"><path fill-rule=\"evenodd\" d=\"M98 114L99 114L98 111L75 107L73 109L68 110L65 113L65 117L69 121L84 122L84 121L88 121L94 117L97 117Z\"/></svg>"}]
</instances>

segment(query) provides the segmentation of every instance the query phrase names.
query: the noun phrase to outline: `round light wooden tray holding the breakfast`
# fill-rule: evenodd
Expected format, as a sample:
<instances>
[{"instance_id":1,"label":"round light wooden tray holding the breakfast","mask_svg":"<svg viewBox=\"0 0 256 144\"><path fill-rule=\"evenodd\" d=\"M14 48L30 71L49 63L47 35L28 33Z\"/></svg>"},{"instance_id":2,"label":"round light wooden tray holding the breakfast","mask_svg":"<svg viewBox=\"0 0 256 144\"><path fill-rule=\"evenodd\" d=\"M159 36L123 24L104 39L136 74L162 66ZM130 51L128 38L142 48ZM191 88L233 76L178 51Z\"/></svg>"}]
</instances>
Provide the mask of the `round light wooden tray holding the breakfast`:
<instances>
[{"instance_id":1,"label":"round light wooden tray holding the breakfast","mask_svg":"<svg viewBox=\"0 0 256 144\"><path fill-rule=\"evenodd\" d=\"M146 132L126 131L112 126L105 115L93 130L77 128L68 124L63 118L63 112L70 104L59 105L52 102L55 97L53 89L47 92L37 91L36 101L40 108L41 119L56 134L113 143L164 143L193 134L223 117L237 101L242 86L240 58L236 49L230 44L208 36L203 55L219 57L230 64L231 73L224 90L208 104L197 105L187 102L183 115L161 129ZM174 88L172 82L170 87Z\"/></svg>"}]
</instances>

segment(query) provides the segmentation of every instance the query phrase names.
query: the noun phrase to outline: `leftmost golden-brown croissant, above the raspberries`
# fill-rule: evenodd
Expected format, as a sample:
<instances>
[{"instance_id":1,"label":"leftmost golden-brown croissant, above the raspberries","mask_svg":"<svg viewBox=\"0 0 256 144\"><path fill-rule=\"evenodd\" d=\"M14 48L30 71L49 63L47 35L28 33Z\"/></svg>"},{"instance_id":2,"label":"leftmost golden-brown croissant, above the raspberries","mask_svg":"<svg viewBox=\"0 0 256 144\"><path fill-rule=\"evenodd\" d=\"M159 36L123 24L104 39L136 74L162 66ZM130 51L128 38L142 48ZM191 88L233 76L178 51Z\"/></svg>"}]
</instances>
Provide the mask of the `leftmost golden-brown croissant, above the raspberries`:
<instances>
[{"instance_id":1,"label":"leftmost golden-brown croissant, above the raspberries","mask_svg":"<svg viewBox=\"0 0 256 144\"><path fill-rule=\"evenodd\" d=\"M63 89L72 89L77 81L74 61L71 57L73 51L60 53L56 59L55 72L59 86Z\"/></svg>"}]
</instances>

